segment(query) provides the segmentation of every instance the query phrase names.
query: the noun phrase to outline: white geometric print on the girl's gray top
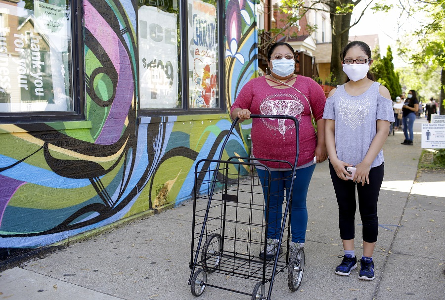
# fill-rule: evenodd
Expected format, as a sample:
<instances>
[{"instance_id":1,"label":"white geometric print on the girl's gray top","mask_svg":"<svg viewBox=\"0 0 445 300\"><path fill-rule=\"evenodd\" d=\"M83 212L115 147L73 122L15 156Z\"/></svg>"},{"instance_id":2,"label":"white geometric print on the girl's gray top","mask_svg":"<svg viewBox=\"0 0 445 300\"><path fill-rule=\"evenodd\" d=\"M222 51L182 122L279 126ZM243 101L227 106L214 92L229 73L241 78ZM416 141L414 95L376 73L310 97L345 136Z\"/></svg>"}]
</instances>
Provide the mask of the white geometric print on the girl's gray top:
<instances>
[{"instance_id":1,"label":"white geometric print on the girl's gray top","mask_svg":"<svg viewBox=\"0 0 445 300\"><path fill-rule=\"evenodd\" d=\"M359 100L340 99L338 112L342 121L355 130L365 122L365 116L369 114L369 97Z\"/></svg>"}]
</instances>

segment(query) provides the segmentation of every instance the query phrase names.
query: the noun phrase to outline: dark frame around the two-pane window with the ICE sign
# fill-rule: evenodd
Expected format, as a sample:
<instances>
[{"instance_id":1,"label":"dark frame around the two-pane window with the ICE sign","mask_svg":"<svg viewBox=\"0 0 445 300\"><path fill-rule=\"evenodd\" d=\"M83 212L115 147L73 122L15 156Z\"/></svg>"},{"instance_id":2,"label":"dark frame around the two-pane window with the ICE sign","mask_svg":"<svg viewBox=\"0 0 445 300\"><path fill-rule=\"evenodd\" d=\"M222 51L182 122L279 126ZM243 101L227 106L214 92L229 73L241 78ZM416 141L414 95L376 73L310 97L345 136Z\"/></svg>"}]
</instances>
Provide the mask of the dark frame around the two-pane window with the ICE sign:
<instances>
[{"instance_id":1,"label":"dark frame around the two-pane window with the ICE sign","mask_svg":"<svg viewBox=\"0 0 445 300\"><path fill-rule=\"evenodd\" d=\"M185 3L184 3L185 2ZM190 108L189 102L189 78L188 78L188 30L182 30L184 24L183 22L187 22L188 20L188 1L178 0L179 3L179 25L181 27L180 38L181 41L187 41L186 43L180 44L180 59L178 62L180 63L181 71L180 71L180 82L181 89L178 92L181 94L181 103L182 107L180 108L157 108L157 109L147 109L140 108L138 103L138 121L140 123L140 119L144 117L157 117L157 116L180 116L180 115L207 115L207 114L221 114L225 112L225 62L224 62L224 53L225 53L225 43L222 37L225 36L225 26L224 26L224 15L225 15L225 6L223 0L216 0L217 2L217 22L218 22L218 95L219 95L219 107L216 108ZM138 9L136 5L136 9ZM136 24L139 24L139 17L136 11ZM185 23L187 24L187 23ZM186 26L185 26L186 27ZM139 61L139 33L137 32L137 61ZM138 91L140 92L140 73L139 73L139 64L136 66L137 72L137 84ZM140 98L140 95L138 95Z\"/></svg>"}]
</instances>

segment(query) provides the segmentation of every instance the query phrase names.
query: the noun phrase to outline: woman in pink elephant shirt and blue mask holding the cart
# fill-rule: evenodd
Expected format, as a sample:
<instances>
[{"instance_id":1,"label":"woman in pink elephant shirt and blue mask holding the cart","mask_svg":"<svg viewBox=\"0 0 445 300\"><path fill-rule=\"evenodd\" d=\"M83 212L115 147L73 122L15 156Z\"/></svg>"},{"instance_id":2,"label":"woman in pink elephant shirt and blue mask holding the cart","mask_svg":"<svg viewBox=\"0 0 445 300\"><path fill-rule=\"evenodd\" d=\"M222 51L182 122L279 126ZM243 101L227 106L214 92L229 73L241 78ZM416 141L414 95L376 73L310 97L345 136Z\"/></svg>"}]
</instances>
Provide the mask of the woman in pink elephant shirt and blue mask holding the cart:
<instances>
[{"instance_id":1,"label":"woman in pink elephant shirt and blue mask holding the cart","mask_svg":"<svg viewBox=\"0 0 445 300\"><path fill-rule=\"evenodd\" d=\"M230 112L239 122L250 118L250 114L290 115L299 121L299 157L295 184L292 187L291 233L293 247L303 247L308 224L306 197L309 182L315 169L313 158L321 163L327 159L322 119L326 97L323 89L311 78L296 75L295 52L288 43L275 43L267 53L270 74L249 81L236 97ZM318 139L312 126L311 113L316 120ZM285 160L292 165L296 157L295 123L289 119L252 120L253 156L273 160ZM260 257L271 259L281 248L277 245L281 230L284 191L289 194L289 178L292 171L278 169L279 163L260 161L271 170L270 191L267 190L266 169L257 167L258 176L266 196L269 193L269 214L267 230L267 252ZM265 201L266 201L265 197ZM266 212L265 212L266 215ZM266 217L266 216L265 216Z\"/></svg>"}]
</instances>

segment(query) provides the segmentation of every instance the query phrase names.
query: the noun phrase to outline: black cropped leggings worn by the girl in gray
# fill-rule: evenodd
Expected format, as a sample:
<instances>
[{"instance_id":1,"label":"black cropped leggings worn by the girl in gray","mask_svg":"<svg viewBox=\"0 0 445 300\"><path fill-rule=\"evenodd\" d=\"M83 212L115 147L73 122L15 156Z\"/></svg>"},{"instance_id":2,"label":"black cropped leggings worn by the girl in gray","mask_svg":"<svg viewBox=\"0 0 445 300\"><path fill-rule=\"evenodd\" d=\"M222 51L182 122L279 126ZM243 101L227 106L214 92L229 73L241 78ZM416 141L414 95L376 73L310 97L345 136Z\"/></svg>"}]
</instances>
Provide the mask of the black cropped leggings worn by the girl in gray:
<instances>
[{"instance_id":1,"label":"black cropped leggings worn by the girl in gray","mask_svg":"<svg viewBox=\"0 0 445 300\"><path fill-rule=\"evenodd\" d=\"M352 240L355 237L355 215L356 215L356 186L358 193L358 211L363 223L363 241L374 243L377 241L379 231L379 219L377 217L377 201L379 199L380 187L383 182L384 166L381 164L369 171L370 184L364 186L352 180L338 178L334 167L329 162L332 183L338 203L338 224L342 240Z\"/></svg>"}]
</instances>

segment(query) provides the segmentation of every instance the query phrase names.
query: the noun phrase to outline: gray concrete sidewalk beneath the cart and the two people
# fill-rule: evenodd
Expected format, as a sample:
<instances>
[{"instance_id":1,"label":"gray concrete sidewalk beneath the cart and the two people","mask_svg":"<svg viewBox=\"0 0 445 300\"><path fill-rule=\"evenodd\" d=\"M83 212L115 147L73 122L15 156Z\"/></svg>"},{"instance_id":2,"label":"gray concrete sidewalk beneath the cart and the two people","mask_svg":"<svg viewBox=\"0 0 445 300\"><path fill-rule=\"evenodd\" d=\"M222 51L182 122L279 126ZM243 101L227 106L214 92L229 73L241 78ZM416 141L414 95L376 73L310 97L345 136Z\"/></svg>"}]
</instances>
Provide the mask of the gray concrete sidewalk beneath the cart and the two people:
<instances>
[{"instance_id":1,"label":"gray concrete sidewalk beneath the cart and the two people","mask_svg":"<svg viewBox=\"0 0 445 300\"><path fill-rule=\"evenodd\" d=\"M324 162L317 165L309 189L302 284L291 292L287 273L278 274L273 300L445 299L445 172L417 173L423 122L415 122L414 146L401 145L403 134L396 132L384 147L376 279L358 280L358 268L350 276L334 274L341 261L337 255L343 251L337 203ZM362 254L360 223L357 212L357 257ZM192 202L188 202L2 272L0 299L196 299L187 284L191 228ZM212 273L208 283L252 293L256 282ZM200 299L250 297L207 287Z\"/></svg>"}]
</instances>

